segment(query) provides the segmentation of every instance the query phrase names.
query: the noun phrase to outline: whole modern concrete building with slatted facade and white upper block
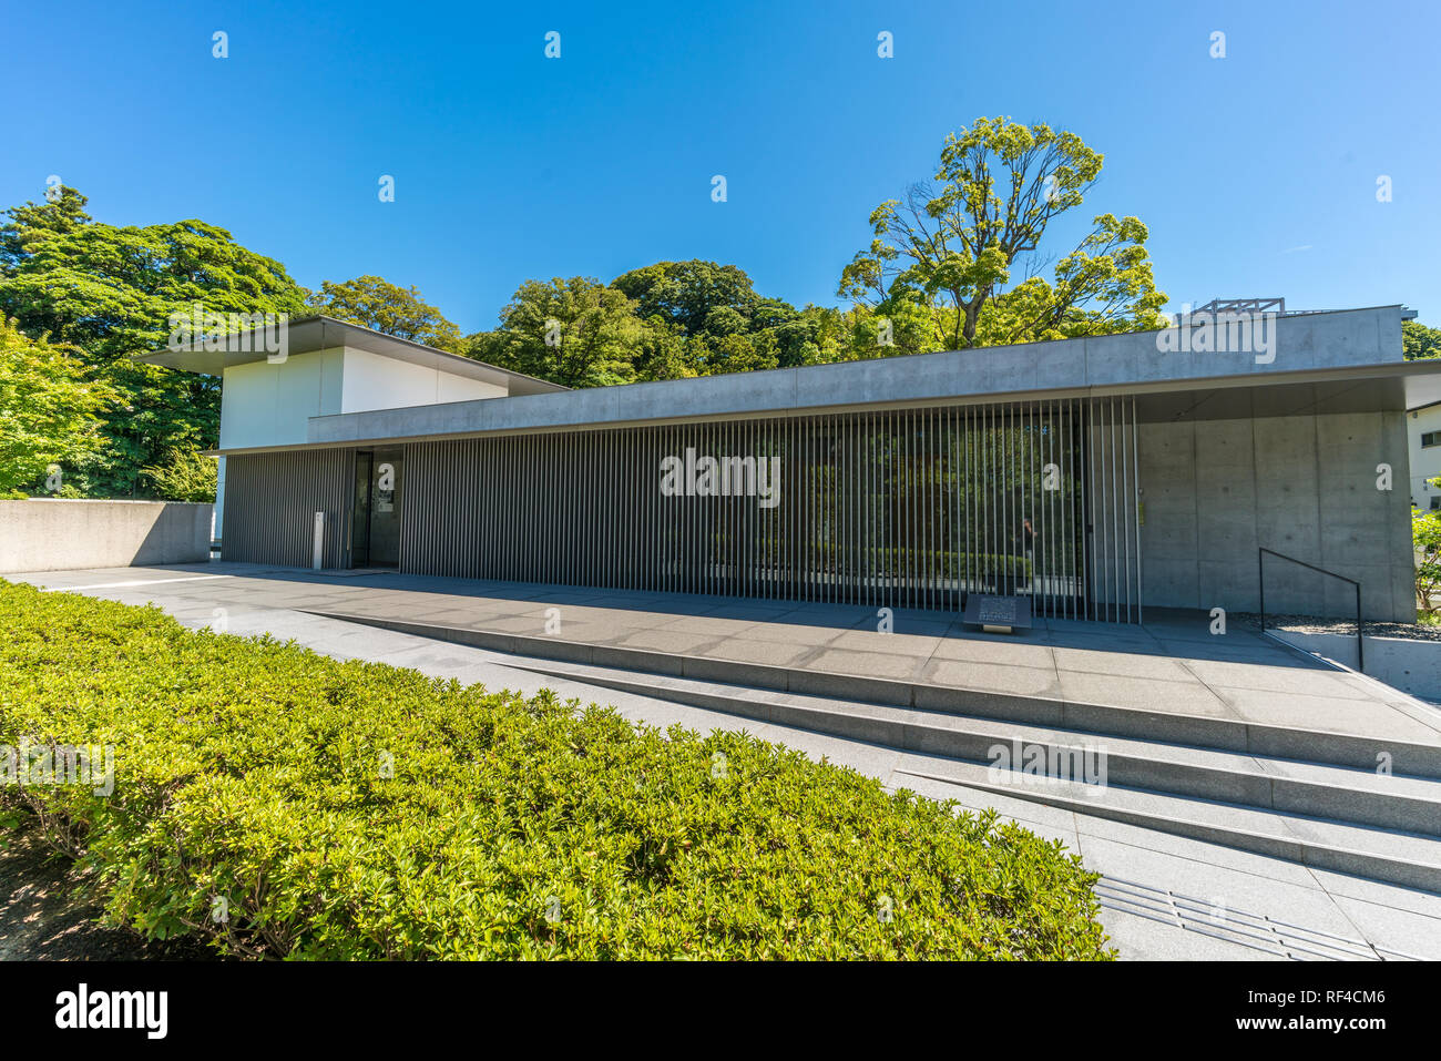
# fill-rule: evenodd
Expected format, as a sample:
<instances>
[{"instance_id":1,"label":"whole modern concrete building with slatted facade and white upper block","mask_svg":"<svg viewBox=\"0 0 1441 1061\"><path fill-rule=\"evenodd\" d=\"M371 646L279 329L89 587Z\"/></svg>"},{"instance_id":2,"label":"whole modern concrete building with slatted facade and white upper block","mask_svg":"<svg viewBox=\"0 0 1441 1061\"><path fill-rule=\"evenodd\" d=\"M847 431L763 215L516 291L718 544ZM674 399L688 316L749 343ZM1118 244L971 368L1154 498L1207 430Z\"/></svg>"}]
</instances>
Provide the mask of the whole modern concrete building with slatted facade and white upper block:
<instances>
[{"instance_id":1,"label":"whole modern concrete building with slatted facade and white upper block","mask_svg":"<svg viewBox=\"0 0 1441 1061\"><path fill-rule=\"evenodd\" d=\"M1409 620L1399 306L566 391L329 319L223 376L223 556L1134 621L1254 611L1262 549ZM1272 611L1355 588L1277 556Z\"/></svg>"}]
</instances>

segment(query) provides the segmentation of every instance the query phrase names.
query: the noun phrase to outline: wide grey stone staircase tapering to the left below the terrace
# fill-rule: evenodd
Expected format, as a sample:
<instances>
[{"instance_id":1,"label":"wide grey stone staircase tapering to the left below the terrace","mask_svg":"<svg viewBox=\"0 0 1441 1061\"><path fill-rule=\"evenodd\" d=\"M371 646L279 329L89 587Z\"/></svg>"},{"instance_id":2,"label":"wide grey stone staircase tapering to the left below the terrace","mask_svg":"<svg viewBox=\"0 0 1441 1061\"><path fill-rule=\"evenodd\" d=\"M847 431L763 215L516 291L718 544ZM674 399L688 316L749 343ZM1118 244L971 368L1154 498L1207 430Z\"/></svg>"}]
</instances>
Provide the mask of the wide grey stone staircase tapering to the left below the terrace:
<instances>
[{"instance_id":1,"label":"wide grey stone staircase tapering to the left below the terrace","mask_svg":"<svg viewBox=\"0 0 1441 1061\"><path fill-rule=\"evenodd\" d=\"M905 753L902 776L1441 894L1441 744L316 614L503 652L512 667L883 745ZM997 748L1009 763L997 764ZM1026 768L1038 757L1095 763L1097 753L1104 784Z\"/></svg>"}]
</instances>

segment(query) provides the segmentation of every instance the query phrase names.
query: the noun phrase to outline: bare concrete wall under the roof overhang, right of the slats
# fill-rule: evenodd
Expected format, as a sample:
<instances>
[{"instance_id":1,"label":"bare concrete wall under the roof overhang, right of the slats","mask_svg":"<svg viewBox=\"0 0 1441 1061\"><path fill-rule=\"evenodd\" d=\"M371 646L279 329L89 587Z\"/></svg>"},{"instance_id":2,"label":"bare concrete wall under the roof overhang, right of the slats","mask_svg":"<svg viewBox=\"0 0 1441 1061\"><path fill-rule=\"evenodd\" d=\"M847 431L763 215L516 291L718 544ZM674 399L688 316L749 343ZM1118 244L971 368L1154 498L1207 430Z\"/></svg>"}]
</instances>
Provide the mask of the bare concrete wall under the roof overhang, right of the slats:
<instances>
[{"instance_id":1,"label":"bare concrete wall under the roof overhang, right of the slats","mask_svg":"<svg viewBox=\"0 0 1441 1061\"><path fill-rule=\"evenodd\" d=\"M1393 489L1376 489L1376 466ZM1405 414L1140 425L1146 604L1257 611L1261 546L1362 582L1366 618L1415 618ZM1355 590L1267 558L1272 613L1353 616Z\"/></svg>"}]
</instances>

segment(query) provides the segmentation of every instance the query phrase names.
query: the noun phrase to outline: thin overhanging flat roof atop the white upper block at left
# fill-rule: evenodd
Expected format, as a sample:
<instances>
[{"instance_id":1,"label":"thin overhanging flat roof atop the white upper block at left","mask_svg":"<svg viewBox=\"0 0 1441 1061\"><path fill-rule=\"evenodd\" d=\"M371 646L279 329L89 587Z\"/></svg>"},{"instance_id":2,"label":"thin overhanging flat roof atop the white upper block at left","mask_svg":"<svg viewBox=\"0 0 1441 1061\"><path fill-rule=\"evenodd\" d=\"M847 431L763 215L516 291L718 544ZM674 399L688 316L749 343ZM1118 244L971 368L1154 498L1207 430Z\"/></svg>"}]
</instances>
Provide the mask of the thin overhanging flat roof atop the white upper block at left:
<instances>
[{"instance_id":1,"label":"thin overhanging flat roof atop the white upper block at left","mask_svg":"<svg viewBox=\"0 0 1441 1061\"><path fill-rule=\"evenodd\" d=\"M527 376L520 372L512 372L510 369L497 368L496 365L487 365L486 362L476 360L474 358L463 358L458 353L437 350L434 346L425 346L424 343L415 343L409 339L389 336L383 332L376 332L375 329L362 327L359 324L350 324L349 321L336 320L334 317L327 317L324 314L288 321L285 334L288 353L314 353L316 350L331 350L340 346L349 346L354 350L366 350L367 353L376 353L382 358L393 358L395 360L409 362L411 365L424 365L425 368L448 372L454 376L465 376L468 379L480 379L496 386L504 386L512 395L553 394L571 389L568 386L562 386L561 383L552 383L548 379L536 379L535 376ZM261 342L254 342L252 337L259 337ZM160 365L167 369L180 369L182 372L197 372L200 375L219 376L228 368L233 368L235 365L252 365L255 362L265 360L268 356L264 346L264 329L236 332L225 336L225 340L226 347L233 349L206 350L199 345L203 343L202 339L195 343L182 345L176 349L167 346L160 350L151 350L150 353L137 353L131 360L143 365ZM258 349L241 349L252 346L256 346Z\"/></svg>"}]
</instances>

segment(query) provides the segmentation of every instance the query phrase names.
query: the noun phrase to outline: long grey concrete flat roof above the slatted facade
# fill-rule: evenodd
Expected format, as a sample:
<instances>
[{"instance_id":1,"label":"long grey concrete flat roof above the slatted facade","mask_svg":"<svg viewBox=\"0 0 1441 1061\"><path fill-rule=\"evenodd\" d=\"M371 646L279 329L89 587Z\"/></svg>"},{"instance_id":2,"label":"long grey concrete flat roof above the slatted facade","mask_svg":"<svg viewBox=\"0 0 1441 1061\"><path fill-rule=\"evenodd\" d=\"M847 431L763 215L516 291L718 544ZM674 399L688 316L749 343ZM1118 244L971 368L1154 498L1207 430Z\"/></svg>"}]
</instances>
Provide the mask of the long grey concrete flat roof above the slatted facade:
<instances>
[{"instance_id":1,"label":"long grey concrete flat roof above the slatted facade","mask_svg":"<svg viewBox=\"0 0 1441 1061\"><path fill-rule=\"evenodd\" d=\"M303 444L216 453L1110 395L1136 396L1143 421L1402 411L1441 401L1441 359L1402 356L1401 306L1271 320L1264 353L1195 350L1190 340L1200 324L1190 323L1164 332L311 417ZM166 362L161 355L151 363Z\"/></svg>"}]
</instances>

